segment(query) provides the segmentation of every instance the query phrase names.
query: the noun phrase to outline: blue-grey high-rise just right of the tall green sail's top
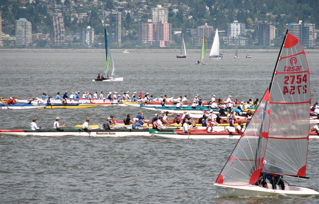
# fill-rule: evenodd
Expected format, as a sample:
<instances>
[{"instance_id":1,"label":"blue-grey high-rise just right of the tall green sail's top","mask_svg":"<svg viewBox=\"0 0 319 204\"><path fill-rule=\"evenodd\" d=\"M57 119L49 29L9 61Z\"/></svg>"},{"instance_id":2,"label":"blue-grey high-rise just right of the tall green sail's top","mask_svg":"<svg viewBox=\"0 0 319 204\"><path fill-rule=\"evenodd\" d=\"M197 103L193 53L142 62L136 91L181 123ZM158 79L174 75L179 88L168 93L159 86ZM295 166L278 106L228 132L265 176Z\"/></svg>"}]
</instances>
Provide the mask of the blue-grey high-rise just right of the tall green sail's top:
<instances>
[{"instance_id":1,"label":"blue-grey high-rise just right of the tall green sail's top","mask_svg":"<svg viewBox=\"0 0 319 204\"><path fill-rule=\"evenodd\" d=\"M110 39L112 43L121 44L122 43L122 32L121 32L121 13L111 12L110 13Z\"/></svg>"}]
</instances>

